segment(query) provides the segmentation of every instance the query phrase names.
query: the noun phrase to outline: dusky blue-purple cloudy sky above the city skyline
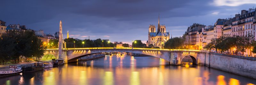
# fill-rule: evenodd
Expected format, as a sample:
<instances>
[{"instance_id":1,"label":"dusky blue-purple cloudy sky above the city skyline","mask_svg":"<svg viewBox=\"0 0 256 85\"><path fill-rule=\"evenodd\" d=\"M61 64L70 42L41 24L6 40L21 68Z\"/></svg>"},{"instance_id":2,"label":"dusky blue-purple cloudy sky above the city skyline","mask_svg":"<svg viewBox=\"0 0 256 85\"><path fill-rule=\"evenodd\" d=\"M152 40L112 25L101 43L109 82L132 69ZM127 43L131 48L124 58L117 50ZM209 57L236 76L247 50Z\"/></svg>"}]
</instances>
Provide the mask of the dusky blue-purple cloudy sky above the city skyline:
<instances>
[{"instance_id":1,"label":"dusky blue-purple cloudy sky above the city skyline","mask_svg":"<svg viewBox=\"0 0 256 85\"><path fill-rule=\"evenodd\" d=\"M256 0L3 0L0 20L26 25L44 33L59 31L78 39L110 39L111 42L148 39L149 24L166 25L173 37L193 23L211 25L241 10L256 7Z\"/></svg>"}]
</instances>

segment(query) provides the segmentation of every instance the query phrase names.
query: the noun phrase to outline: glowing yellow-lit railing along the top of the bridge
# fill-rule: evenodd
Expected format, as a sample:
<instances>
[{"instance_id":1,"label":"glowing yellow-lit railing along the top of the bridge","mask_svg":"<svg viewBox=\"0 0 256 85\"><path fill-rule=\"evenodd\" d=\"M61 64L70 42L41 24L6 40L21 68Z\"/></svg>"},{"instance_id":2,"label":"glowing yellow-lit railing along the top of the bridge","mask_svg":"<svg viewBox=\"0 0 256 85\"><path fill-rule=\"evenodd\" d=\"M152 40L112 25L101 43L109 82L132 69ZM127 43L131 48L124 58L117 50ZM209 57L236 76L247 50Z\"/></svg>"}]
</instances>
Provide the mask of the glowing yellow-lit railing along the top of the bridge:
<instances>
[{"instance_id":1,"label":"glowing yellow-lit railing along the top of the bridge","mask_svg":"<svg viewBox=\"0 0 256 85\"><path fill-rule=\"evenodd\" d=\"M132 47L88 47L88 48L63 48L63 50L87 50L87 49L137 49L137 50L165 50L165 51L200 51L190 49L160 49L160 48L132 48ZM58 48L49 48L46 50L58 50Z\"/></svg>"}]
</instances>

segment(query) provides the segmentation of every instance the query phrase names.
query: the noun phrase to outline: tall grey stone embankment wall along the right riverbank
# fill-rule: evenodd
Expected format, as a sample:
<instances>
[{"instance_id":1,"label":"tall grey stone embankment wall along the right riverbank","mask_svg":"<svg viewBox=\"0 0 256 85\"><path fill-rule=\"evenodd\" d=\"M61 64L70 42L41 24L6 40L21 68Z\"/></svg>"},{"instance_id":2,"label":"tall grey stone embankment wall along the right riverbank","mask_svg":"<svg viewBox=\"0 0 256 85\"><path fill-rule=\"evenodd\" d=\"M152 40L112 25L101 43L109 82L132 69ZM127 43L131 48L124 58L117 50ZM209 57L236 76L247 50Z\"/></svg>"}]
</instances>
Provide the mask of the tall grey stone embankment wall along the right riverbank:
<instances>
[{"instance_id":1,"label":"tall grey stone embankment wall along the right riverbank","mask_svg":"<svg viewBox=\"0 0 256 85\"><path fill-rule=\"evenodd\" d=\"M206 66L256 79L255 57L245 57L212 52L206 56L209 56L208 58L210 58L210 62L207 62L209 65L206 64Z\"/></svg>"}]
</instances>

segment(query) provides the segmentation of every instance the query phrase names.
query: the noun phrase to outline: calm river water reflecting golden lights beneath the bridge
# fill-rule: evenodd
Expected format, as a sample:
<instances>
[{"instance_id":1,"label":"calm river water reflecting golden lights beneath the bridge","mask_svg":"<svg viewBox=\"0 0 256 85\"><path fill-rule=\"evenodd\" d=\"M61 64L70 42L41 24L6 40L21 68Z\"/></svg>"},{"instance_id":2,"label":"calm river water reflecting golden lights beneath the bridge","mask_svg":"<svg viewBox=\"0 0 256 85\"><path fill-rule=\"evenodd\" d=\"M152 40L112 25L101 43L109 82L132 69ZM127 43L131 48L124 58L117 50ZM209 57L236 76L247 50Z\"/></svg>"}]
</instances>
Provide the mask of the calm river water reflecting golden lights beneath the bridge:
<instances>
[{"instance_id":1,"label":"calm river water reflecting golden lights beneath the bridge","mask_svg":"<svg viewBox=\"0 0 256 85\"><path fill-rule=\"evenodd\" d=\"M0 85L253 85L255 79L152 56L106 55L34 73L0 78Z\"/></svg>"}]
</instances>

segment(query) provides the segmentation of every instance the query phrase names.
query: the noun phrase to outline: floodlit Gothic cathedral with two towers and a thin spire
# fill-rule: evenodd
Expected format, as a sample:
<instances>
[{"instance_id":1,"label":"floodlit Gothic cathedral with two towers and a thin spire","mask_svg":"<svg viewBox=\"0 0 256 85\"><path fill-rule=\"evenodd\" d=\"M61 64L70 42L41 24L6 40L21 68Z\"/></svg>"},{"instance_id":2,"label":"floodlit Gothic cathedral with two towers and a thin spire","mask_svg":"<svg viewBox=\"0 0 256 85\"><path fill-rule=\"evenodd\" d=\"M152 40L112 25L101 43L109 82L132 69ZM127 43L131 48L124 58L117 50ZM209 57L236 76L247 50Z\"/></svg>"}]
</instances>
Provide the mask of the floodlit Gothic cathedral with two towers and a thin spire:
<instances>
[{"instance_id":1,"label":"floodlit Gothic cathedral with two towers and a thin spire","mask_svg":"<svg viewBox=\"0 0 256 85\"><path fill-rule=\"evenodd\" d=\"M163 48L164 43L168 39L170 39L170 34L169 34L169 32L166 32L165 25L159 24L159 15L158 15L157 32L156 32L155 25L149 25L147 46L153 44L154 46Z\"/></svg>"}]
</instances>

